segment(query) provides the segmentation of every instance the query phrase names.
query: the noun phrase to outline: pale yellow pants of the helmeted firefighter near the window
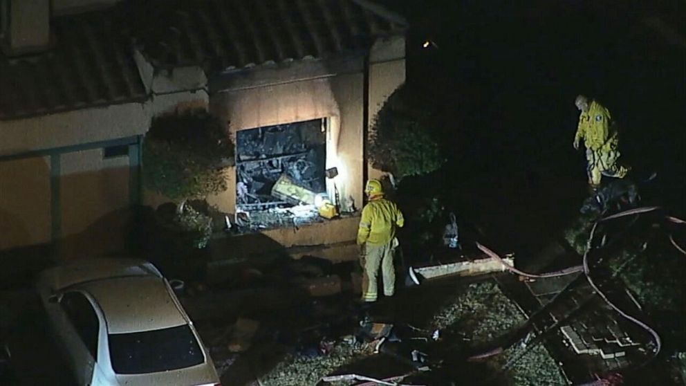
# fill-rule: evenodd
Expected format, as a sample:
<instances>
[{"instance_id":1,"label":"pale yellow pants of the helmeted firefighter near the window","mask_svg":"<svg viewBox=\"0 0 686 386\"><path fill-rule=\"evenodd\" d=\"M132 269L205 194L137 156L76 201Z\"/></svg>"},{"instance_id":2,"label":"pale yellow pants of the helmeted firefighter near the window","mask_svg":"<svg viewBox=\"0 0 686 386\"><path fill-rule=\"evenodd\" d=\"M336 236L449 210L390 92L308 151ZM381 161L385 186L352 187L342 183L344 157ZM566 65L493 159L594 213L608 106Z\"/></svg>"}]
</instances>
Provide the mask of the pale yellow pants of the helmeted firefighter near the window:
<instances>
[{"instance_id":1,"label":"pale yellow pants of the helmeted firefighter near the window","mask_svg":"<svg viewBox=\"0 0 686 386\"><path fill-rule=\"evenodd\" d=\"M378 273L381 273L384 284L384 295L393 296L396 290L396 270L393 266L393 254L398 247L398 239L393 237L388 243L380 246L365 244L360 256L362 266L362 300L376 302L378 297Z\"/></svg>"}]
</instances>

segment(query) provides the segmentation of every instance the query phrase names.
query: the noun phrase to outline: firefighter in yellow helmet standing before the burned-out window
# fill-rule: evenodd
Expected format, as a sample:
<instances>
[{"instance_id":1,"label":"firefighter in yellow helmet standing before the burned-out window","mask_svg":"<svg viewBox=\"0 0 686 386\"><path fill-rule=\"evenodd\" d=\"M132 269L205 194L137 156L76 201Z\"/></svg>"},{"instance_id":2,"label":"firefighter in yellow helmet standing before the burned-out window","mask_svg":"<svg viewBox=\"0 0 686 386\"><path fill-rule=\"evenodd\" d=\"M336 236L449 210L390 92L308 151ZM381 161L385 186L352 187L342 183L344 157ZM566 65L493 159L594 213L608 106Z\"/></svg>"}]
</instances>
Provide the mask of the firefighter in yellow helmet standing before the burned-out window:
<instances>
[{"instance_id":1,"label":"firefighter in yellow helmet standing before the burned-out window","mask_svg":"<svg viewBox=\"0 0 686 386\"><path fill-rule=\"evenodd\" d=\"M402 228L405 219L396 203L384 198L381 182L367 181L364 192L369 203L362 209L358 230L360 265L362 265L362 300L376 302L378 297L377 277L381 267L384 295L393 296L396 272L393 267L393 253L398 247L396 229Z\"/></svg>"}]
</instances>

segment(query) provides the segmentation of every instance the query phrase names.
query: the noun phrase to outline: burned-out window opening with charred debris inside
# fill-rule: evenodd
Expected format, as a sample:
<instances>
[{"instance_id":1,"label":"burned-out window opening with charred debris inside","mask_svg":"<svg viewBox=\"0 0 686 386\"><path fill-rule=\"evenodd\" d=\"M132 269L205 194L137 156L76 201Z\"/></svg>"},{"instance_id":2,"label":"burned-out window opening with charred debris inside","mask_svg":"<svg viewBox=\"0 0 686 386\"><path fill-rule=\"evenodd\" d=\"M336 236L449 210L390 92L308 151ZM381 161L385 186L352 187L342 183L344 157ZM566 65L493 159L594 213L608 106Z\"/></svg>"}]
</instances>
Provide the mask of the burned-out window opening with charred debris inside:
<instances>
[{"instance_id":1,"label":"burned-out window opening with charred debris inside","mask_svg":"<svg viewBox=\"0 0 686 386\"><path fill-rule=\"evenodd\" d=\"M251 228L315 219L326 194L326 119L241 130L236 138L237 212Z\"/></svg>"}]
</instances>

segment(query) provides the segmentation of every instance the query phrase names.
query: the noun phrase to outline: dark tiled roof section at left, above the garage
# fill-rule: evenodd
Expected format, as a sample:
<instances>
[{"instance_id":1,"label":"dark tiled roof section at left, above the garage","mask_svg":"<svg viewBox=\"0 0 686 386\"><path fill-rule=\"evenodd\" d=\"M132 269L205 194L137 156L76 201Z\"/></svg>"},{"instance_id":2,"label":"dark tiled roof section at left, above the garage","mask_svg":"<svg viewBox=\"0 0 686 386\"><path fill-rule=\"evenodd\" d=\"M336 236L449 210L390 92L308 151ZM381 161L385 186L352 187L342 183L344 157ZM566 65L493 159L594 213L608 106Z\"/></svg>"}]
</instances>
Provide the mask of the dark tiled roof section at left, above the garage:
<instances>
[{"instance_id":1,"label":"dark tiled roof section at left, above the garage","mask_svg":"<svg viewBox=\"0 0 686 386\"><path fill-rule=\"evenodd\" d=\"M57 17L46 52L0 54L0 120L145 98L129 38L112 16Z\"/></svg>"}]
</instances>

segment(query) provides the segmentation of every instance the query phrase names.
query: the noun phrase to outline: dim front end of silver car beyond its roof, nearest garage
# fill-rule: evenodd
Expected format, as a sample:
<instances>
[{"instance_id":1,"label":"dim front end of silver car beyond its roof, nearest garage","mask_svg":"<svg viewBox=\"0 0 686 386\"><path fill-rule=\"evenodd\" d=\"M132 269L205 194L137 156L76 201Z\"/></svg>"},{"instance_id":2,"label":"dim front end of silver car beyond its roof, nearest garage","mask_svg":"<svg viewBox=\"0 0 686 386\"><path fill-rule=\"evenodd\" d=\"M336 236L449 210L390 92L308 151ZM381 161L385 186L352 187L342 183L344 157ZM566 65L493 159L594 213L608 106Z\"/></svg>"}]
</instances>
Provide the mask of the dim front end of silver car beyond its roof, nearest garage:
<instances>
[{"instance_id":1,"label":"dim front end of silver car beyond its roof, nearest garage","mask_svg":"<svg viewBox=\"0 0 686 386\"><path fill-rule=\"evenodd\" d=\"M162 277L160 271L145 260L107 258L79 259L63 266L49 268L43 275L51 277L53 291L110 277Z\"/></svg>"}]
</instances>

